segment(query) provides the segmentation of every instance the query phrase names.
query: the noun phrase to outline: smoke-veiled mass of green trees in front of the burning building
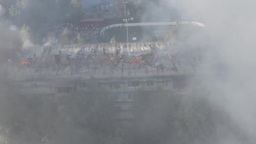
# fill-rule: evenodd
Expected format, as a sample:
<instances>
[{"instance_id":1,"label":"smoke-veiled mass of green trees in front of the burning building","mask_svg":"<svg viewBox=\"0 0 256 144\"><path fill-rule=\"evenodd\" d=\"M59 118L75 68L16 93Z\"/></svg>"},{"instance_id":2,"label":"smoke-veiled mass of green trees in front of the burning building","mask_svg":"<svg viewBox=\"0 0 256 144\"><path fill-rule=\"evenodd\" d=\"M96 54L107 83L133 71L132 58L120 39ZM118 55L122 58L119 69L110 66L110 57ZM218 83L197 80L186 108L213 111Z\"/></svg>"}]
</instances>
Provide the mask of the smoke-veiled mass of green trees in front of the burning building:
<instances>
[{"instance_id":1,"label":"smoke-veiled mass of green trees in front of the burning building","mask_svg":"<svg viewBox=\"0 0 256 144\"><path fill-rule=\"evenodd\" d=\"M162 90L136 92L134 125L123 129L107 91L95 87L72 93L61 104L42 96L1 96L1 144L211 144L228 133L246 138L208 96L168 96Z\"/></svg>"}]
</instances>

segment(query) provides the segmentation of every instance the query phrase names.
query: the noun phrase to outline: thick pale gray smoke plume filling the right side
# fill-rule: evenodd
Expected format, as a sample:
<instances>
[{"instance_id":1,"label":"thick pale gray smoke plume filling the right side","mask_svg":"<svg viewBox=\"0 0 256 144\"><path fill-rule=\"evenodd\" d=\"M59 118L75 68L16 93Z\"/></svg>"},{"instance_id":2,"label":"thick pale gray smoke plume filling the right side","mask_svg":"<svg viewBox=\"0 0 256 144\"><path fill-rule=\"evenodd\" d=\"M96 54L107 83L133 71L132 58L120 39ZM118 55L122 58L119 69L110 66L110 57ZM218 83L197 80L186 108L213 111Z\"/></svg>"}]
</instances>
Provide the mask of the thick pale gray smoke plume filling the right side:
<instances>
[{"instance_id":1,"label":"thick pale gray smoke plume filling the right side","mask_svg":"<svg viewBox=\"0 0 256 144\"><path fill-rule=\"evenodd\" d=\"M174 1L174 0L173 0ZM171 4L171 3L170 3ZM247 136L251 143L256 142L256 18L255 0L183 0L177 1L179 8L184 8L184 17L200 15L206 24L205 31L211 37L208 48L218 53L218 58L208 59L212 64L220 61L224 64L226 75L216 76L216 67L202 69L204 74L215 75L203 78L211 91L213 104L222 103L234 123ZM179 11L182 11L179 9ZM200 40L191 37L193 41ZM200 43L198 43L200 45ZM206 56L205 56L206 57ZM206 65L206 64L204 64ZM222 99L222 100L220 100ZM240 144L232 137L220 139L221 144Z\"/></svg>"}]
</instances>

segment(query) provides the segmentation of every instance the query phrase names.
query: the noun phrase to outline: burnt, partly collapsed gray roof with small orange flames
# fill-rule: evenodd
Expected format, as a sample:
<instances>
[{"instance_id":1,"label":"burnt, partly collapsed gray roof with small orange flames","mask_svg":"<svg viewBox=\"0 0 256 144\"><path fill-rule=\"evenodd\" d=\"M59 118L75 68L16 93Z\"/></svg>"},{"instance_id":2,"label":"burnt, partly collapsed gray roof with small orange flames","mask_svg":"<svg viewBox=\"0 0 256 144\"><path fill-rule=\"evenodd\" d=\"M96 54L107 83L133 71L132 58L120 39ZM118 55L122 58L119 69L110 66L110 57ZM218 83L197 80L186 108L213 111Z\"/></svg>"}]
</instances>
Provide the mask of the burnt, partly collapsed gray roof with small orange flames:
<instances>
[{"instance_id":1,"label":"burnt, partly collapsed gray roof with small orange flames","mask_svg":"<svg viewBox=\"0 0 256 144\"><path fill-rule=\"evenodd\" d=\"M191 75L195 73L197 53L180 53L180 44L99 43L88 45L52 45L26 50L22 60L8 64L11 80L52 78L115 78ZM127 48L126 48L127 47ZM125 54L120 53L125 49ZM193 56L192 56L193 55ZM183 58L182 58L183 57Z\"/></svg>"}]
</instances>

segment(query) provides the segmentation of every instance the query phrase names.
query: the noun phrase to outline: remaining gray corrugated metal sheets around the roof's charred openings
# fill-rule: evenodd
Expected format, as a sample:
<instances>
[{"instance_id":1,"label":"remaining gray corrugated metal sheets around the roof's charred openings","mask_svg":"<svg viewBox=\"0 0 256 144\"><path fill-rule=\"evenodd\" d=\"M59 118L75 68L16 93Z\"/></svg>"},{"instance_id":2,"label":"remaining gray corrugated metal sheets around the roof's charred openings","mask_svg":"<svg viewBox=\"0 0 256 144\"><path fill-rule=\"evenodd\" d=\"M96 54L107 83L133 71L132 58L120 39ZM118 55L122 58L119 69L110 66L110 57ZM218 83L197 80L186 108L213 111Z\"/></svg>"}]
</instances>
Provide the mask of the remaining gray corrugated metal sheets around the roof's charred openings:
<instances>
[{"instance_id":1,"label":"remaining gray corrugated metal sheets around the roof's charred openings","mask_svg":"<svg viewBox=\"0 0 256 144\"><path fill-rule=\"evenodd\" d=\"M86 62L83 59L73 60L68 65L54 64L50 66L45 65L27 65L22 67L14 67L9 65L8 77L12 80L29 80L29 79L49 79L49 78L62 78L62 77L77 77L84 79L94 78L111 78L111 77L144 77L144 76L167 76L167 75L184 75L193 74L194 69L189 64L192 61L190 58L187 60L178 59L179 64L173 65L170 59L166 59L163 62L164 69L150 66L147 64L131 64L133 59L137 56L148 53L163 53L171 52L175 49L175 45L172 42L153 42L153 43L129 43L127 48L128 56L123 56L120 61L120 56L115 56L116 49L122 47L127 43L100 43L89 45L53 45L51 47L42 47L40 49L26 51L27 56L31 57L33 53L37 57L40 57L40 53L44 52L44 56L69 55L71 59L77 57L77 53L80 51L84 57L88 59L88 55L91 50L96 50L93 53L93 57ZM149 47L152 45L153 49ZM103 56L103 48L107 53L107 56ZM132 51L133 50L133 51ZM110 57L114 55L116 61L113 67ZM119 60L119 61L118 61ZM178 71L173 71L173 67L176 67Z\"/></svg>"}]
</instances>

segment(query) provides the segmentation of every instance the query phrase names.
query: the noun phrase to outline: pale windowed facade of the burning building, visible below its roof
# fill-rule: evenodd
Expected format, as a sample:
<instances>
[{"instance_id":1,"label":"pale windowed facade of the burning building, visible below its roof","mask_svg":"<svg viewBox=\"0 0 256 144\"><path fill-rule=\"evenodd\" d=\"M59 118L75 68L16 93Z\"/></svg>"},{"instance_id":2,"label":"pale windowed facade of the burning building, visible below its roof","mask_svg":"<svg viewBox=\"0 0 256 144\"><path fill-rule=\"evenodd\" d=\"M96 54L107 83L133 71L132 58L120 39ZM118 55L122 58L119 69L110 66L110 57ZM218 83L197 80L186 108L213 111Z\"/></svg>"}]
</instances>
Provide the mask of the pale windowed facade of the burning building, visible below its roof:
<instances>
[{"instance_id":1,"label":"pale windowed facade of the burning building, visible below its roof","mask_svg":"<svg viewBox=\"0 0 256 144\"><path fill-rule=\"evenodd\" d=\"M133 87L131 81L139 81L139 85ZM148 83L149 82L149 83ZM164 82L164 83L163 83ZM55 83L55 84L54 84ZM58 83L58 82L57 82ZM61 82L63 84L63 82ZM51 95L54 94L54 99L59 101L61 105L61 97L68 96L69 93L76 91L78 93L86 93L90 80L71 80L67 84L59 85L56 81L29 81L16 82L16 88L21 94L26 95ZM116 119L123 126L128 127L133 123L132 101L136 91L156 91L157 88L162 88L163 91L168 91L171 95L173 87L173 78L171 77L141 77L129 79L111 79L111 80L96 80L98 88L103 88L110 92L109 99L115 101L115 107L118 110ZM59 88L61 91L59 91ZM70 92L63 92L63 88L71 88Z\"/></svg>"}]
</instances>

